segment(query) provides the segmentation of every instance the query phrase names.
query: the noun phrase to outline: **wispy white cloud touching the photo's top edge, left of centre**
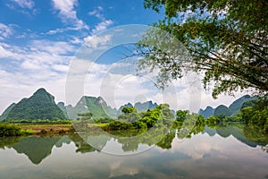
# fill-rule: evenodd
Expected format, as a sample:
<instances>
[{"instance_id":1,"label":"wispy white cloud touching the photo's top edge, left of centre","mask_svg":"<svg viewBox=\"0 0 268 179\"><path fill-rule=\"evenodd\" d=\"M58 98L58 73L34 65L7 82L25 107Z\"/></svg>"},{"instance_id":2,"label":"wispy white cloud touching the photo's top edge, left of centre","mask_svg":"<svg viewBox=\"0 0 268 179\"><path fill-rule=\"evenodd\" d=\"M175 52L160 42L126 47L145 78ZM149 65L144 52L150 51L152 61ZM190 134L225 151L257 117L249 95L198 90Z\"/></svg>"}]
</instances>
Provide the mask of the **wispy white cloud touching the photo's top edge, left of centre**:
<instances>
[{"instance_id":1,"label":"wispy white cloud touching the photo's top edge, left of centre","mask_svg":"<svg viewBox=\"0 0 268 179\"><path fill-rule=\"evenodd\" d=\"M74 23L74 30L86 29L88 25L78 19L75 7L78 6L78 0L52 0L54 10L59 11L60 18L64 23L71 21Z\"/></svg>"}]
</instances>

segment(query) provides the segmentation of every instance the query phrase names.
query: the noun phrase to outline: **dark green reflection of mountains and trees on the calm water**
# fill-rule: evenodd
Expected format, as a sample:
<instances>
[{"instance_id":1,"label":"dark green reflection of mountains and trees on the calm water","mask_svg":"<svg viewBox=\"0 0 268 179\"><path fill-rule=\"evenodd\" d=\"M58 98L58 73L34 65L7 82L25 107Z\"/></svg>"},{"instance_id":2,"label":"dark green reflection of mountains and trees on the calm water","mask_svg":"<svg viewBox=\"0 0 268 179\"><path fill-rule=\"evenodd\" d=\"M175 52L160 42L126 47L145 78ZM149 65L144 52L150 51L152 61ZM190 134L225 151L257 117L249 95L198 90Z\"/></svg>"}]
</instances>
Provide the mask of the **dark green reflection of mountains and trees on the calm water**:
<instances>
[{"instance_id":1,"label":"dark green reflection of mountains and trees on the calm water","mask_svg":"<svg viewBox=\"0 0 268 179\"><path fill-rule=\"evenodd\" d=\"M214 155L222 148L215 147L218 140L214 141L214 139L218 139L219 136L221 136L222 138L226 138L225 141L230 141L231 137L233 139L236 139L237 141L242 142L243 144L246 144L251 148L256 148L257 146L260 146L259 149L267 153L268 145L266 145L267 143L265 143L267 139L264 139L264 137L262 137L261 139L256 140L256 138L252 138L251 135L251 138L248 139L244 135L245 132L243 131L243 128L239 126L229 125L225 127L217 127L215 129L205 126L205 128L202 128L202 130L204 131L199 134L196 134L198 131L197 127L194 132L190 132L190 134L188 134L188 132L185 132L184 129L180 129L180 131L172 130L166 135L164 135L163 139L156 144L154 142L158 141L158 139L155 139L150 135L143 136L142 138L124 138L121 137L126 135L126 133L123 132L116 134L113 132L113 135L109 133L107 135L104 135L104 133L98 134L96 132L89 132L82 134L82 137L79 134L71 134L69 136L53 137L31 136L22 138L3 138L0 142L0 148L14 149L18 154L26 155L32 162L32 164L35 165L40 164L44 158L47 158L49 155L51 155L52 149L54 147L62 148L63 143L71 144L71 142L74 143L76 147L75 152L82 154L95 151L99 152L102 150L105 151L105 149L113 149L114 151L120 150L121 152L124 152L126 154L133 154L138 149L142 150L144 145L154 145L159 149L168 149L172 152L181 152L185 150L184 153L191 158L204 158L205 156ZM185 135L184 132L186 133ZM185 142L180 141L183 139L193 138L193 136L195 135L197 135L197 137L188 140L189 143L195 144L199 148L196 152L193 152L193 149L188 147ZM205 135L210 136L210 140L213 141L213 144L211 146L205 144L205 142L203 141ZM84 139L86 139L86 141ZM198 141L196 141L195 139L198 139ZM94 147L92 147L88 143L93 143ZM232 142L229 143L230 147L231 144ZM190 152L191 154L189 154L188 152Z\"/></svg>"}]
</instances>

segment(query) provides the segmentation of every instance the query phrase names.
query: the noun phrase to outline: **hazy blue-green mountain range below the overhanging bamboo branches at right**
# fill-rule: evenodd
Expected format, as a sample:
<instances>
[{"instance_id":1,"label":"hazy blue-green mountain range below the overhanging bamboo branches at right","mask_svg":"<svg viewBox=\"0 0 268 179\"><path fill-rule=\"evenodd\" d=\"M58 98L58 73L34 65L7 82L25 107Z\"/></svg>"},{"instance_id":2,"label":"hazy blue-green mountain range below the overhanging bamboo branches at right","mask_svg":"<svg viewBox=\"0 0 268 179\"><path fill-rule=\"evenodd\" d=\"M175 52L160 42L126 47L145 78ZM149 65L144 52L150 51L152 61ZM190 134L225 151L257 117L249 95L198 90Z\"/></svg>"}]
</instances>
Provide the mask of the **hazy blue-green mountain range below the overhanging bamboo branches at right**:
<instances>
[{"instance_id":1,"label":"hazy blue-green mountain range below the overhanging bamboo branches at right","mask_svg":"<svg viewBox=\"0 0 268 179\"><path fill-rule=\"evenodd\" d=\"M249 95L245 95L237 100L235 100L233 103L230 104L229 107L226 107L224 105L220 105L219 107L213 108L213 107L206 107L205 110L200 109L198 114L203 115L205 118L208 118L211 115L237 115L243 106L244 103L247 101L251 101L255 99L255 97L250 97Z\"/></svg>"}]
</instances>

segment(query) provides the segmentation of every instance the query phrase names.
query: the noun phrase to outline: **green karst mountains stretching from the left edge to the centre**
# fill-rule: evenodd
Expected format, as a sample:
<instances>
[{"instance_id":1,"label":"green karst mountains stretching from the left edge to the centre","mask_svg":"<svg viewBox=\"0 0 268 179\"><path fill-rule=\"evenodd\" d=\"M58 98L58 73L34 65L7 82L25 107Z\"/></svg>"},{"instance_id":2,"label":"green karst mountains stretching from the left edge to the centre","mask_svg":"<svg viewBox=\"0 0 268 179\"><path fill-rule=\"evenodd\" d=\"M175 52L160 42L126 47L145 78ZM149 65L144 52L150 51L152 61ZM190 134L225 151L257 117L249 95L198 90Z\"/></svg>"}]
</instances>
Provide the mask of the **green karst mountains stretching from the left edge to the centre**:
<instances>
[{"instance_id":1,"label":"green karst mountains stretching from the left edge to the centre","mask_svg":"<svg viewBox=\"0 0 268 179\"><path fill-rule=\"evenodd\" d=\"M33 119L77 119L80 113L92 113L93 118L115 118L121 114L122 107L133 107L128 103L121 106L118 110L109 107L104 98L87 97L80 98L76 106L65 106L63 102L57 105L54 102L54 96L45 89L37 90L30 98L22 98L17 104L13 103L0 115L0 121L4 120L33 120ZM145 103L136 103L134 107L138 112L157 107L156 103L147 101Z\"/></svg>"}]
</instances>

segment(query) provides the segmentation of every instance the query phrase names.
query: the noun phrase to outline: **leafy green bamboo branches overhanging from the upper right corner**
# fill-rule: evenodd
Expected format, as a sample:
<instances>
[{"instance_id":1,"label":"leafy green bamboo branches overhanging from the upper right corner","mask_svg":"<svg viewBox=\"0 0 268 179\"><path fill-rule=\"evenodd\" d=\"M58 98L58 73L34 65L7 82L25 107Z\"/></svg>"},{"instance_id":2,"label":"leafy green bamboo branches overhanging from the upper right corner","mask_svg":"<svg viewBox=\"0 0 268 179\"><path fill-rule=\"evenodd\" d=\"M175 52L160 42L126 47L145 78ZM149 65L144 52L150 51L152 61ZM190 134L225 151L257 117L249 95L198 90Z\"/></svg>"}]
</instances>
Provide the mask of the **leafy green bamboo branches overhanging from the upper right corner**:
<instances>
[{"instance_id":1,"label":"leafy green bamboo branches overhanging from the upper right corner","mask_svg":"<svg viewBox=\"0 0 268 179\"><path fill-rule=\"evenodd\" d=\"M266 0L145 0L144 5L156 12L164 7L165 18L154 26L180 40L191 56L185 61L181 50L163 51L161 47L169 38L147 31L138 42L138 50L144 56L139 70L159 68L157 82L161 88L167 81L181 78L184 71L192 70L205 72L205 89L214 81L214 98L235 90L267 93ZM148 43L154 39L154 45Z\"/></svg>"}]
</instances>

